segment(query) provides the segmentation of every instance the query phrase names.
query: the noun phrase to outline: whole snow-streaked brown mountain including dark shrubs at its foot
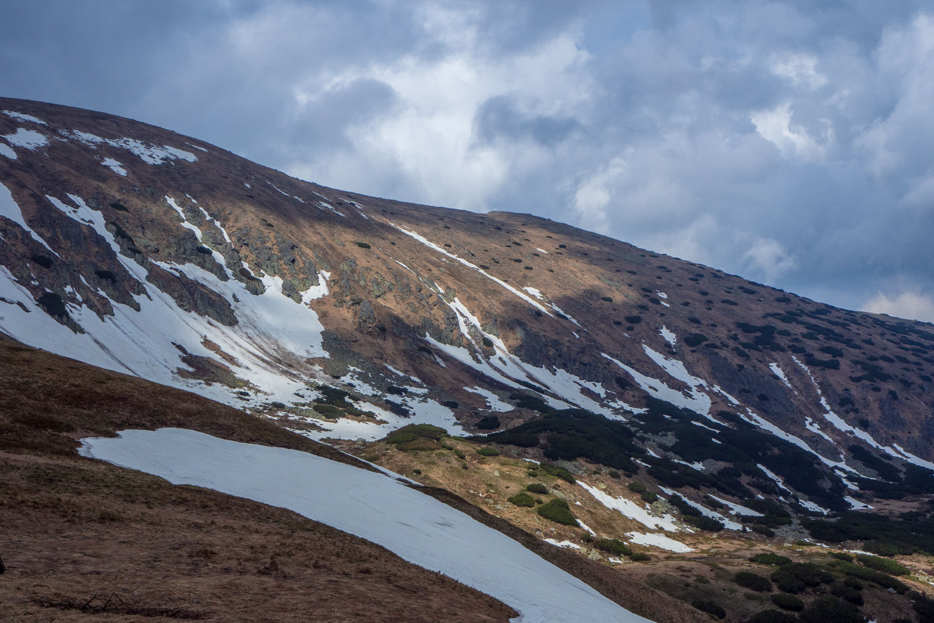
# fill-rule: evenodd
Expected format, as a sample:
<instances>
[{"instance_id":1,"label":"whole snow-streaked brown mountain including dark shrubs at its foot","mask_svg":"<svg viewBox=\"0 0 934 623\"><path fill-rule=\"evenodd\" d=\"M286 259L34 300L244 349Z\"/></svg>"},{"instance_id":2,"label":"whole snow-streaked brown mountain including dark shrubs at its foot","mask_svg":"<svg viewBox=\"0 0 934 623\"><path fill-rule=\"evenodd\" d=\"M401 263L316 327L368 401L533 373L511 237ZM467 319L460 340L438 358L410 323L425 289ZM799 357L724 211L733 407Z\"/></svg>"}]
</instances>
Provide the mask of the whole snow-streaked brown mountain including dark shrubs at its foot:
<instances>
[{"instance_id":1,"label":"whole snow-streaked brown mountain including dark shrubs at its foot","mask_svg":"<svg viewBox=\"0 0 934 623\"><path fill-rule=\"evenodd\" d=\"M639 513L673 535L693 533L693 505L743 539L792 526L930 548L926 323L532 215L328 189L133 120L0 111L0 331L29 346L376 448L436 485L456 479L417 453L460 464L448 444L373 442L407 424L473 433L509 460L586 465L603 478L587 487L611 486L604 505L630 508L606 480L622 471L645 502L663 496ZM545 477L517 465L510 486ZM920 523L859 536L857 511Z\"/></svg>"}]
</instances>

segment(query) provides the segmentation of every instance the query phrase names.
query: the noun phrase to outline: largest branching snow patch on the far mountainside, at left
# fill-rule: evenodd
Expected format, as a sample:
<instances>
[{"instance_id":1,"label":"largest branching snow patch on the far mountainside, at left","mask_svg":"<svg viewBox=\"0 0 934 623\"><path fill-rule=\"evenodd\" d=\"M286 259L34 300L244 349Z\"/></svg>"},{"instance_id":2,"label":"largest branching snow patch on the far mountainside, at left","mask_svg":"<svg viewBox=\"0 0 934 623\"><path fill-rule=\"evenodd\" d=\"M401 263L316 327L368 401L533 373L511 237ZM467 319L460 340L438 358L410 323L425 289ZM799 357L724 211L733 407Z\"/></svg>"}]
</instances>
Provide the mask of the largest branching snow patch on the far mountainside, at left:
<instances>
[{"instance_id":1,"label":"largest branching snow patch on the far mountainside, at left","mask_svg":"<svg viewBox=\"0 0 934 623\"><path fill-rule=\"evenodd\" d=\"M296 389L304 389L304 377L289 367L276 364L282 355L323 357L321 327L318 315L308 303L327 294L327 277L321 273L322 284L303 292L303 303L296 304L282 294L279 277L263 276L266 291L261 295L248 292L246 286L217 276L193 264L179 266L165 263L167 269L183 273L219 293L233 307L239 323L233 327L219 325L194 312L180 309L176 302L158 290L146 276L148 271L119 253L113 234L106 231L103 215L92 210L76 195L68 195L78 207L48 197L53 205L82 224L91 226L113 248L116 258L146 289L147 294L135 296L140 311L112 301L113 316L99 318L84 304L68 303L68 314L84 329L73 333L51 319L32 295L16 283L6 269L0 270L0 296L21 302L26 309L10 305L0 320L0 330L34 347L72 357L108 370L149 378L164 385L196 389L199 393L226 404L244 404L233 389L181 378L176 371L184 365L173 343L185 347L191 354L215 359L218 355L206 348L205 338L228 353L236 364L233 373L262 388L256 400L291 402ZM2 204L2 201L0 201ZM102 296L106 296L98 290ZM218 360L219 361L219 360Z\"/></svg>"}]
</instances>

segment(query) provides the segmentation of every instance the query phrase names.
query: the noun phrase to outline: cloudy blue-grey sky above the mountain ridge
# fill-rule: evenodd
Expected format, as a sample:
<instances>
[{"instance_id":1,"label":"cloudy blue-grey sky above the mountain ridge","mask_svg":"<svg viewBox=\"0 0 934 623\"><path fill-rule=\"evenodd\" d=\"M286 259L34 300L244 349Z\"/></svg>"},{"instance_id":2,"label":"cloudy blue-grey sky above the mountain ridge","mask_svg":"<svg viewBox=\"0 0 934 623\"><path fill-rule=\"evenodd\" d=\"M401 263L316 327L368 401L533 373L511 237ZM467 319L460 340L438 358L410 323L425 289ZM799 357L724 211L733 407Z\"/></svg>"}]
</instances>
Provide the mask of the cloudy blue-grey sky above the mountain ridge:
<instances>
[{"instance_id":1,"label":"cloudy blue-grey sky above the mountain ridge","mask_svg":"<svg viewBox=\"0 0 934 623\"><path fill-rule=\"evenodd\" d=\"M2 94L934 321L934 3L4 0Z\"/></svg>"}]
</instances>

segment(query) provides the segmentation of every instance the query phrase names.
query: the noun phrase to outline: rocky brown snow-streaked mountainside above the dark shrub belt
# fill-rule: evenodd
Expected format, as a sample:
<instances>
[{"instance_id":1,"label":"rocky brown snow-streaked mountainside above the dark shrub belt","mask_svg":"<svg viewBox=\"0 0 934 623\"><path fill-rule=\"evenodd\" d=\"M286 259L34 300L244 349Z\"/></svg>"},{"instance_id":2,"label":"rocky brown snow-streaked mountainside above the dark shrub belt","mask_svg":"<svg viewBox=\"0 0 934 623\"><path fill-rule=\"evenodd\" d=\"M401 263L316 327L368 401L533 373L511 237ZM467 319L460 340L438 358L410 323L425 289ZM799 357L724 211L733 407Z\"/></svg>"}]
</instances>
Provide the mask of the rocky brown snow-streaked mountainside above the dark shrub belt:
<instances>
[{"instance_id":1,"label":"rocky brown snow-streaked mountainside above the dark shrub belt","mask_svg":"<svg viewBox=\"0 0 934 623\"><path fill-rule=\"evenodd\" d=\"M0 330L31 345L253 408L318 414L324 382L387 426L510 426L534 415L518 394L610 418L658 399L828 465L853 444L934 460L930 325L530 215L328 189L133 120L0 110Z\"/></svg>"}]
</instances>

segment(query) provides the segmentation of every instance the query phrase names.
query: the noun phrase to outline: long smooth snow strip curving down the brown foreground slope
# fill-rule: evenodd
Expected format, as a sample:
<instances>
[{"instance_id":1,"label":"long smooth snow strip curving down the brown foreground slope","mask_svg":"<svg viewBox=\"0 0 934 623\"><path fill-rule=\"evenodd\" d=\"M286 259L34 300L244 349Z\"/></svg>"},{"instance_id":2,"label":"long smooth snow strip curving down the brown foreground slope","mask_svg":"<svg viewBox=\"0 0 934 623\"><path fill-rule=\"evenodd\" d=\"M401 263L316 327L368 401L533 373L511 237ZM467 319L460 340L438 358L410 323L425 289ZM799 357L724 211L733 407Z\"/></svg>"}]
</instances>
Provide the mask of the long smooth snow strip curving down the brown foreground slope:
<instances>
[{"instance_id":1,"label":"long smooth snow strip curving down the brown foreground slope","mask_svg":"<svg viewBox=\"0 0 934 623\"><path fill-rule=\"evenodd\" d=\"M499 531L385 474L184 429L81 440L82 456L288 508L515 608L522 623L647 621Z\"/></svg>"}]
</instances>

